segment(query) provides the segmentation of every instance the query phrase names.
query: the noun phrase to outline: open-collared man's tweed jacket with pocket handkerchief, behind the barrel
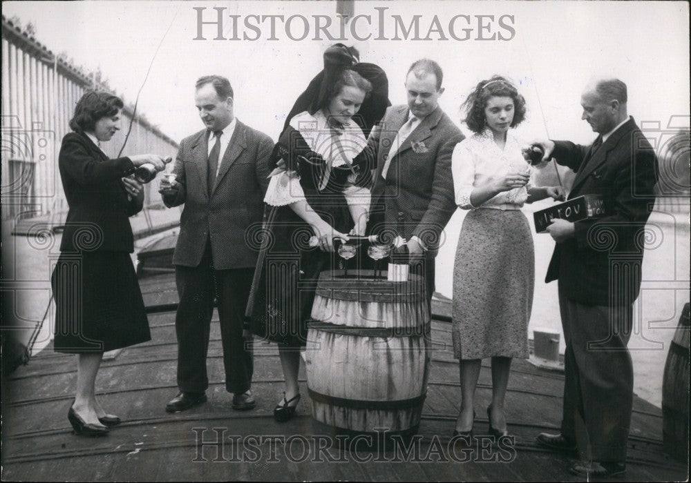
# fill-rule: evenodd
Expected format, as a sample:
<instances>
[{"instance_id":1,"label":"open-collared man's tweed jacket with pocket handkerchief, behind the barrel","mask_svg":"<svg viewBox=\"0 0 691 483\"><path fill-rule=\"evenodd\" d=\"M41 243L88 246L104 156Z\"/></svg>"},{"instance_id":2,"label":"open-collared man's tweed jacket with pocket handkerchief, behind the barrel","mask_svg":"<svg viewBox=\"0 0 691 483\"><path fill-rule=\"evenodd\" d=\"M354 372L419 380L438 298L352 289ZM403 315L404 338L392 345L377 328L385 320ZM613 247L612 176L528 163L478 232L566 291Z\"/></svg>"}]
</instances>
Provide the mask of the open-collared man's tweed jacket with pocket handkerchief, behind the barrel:
<instances>
[{"instance_id":1,"label":"open-collared man's tweed jacket with pocket handkerchief, behind the barrel","mask_svg":"<svg viewBox=\"0 0 691 483\"><path fill-rule=\"evenodd\" d=\"M407 105L388 108L368 139L368 147L376 152L372 206L384 209L384 224L390 228L395 227L398 213L403 212L403 237L415 235L435 252L442 230L456 210L451 154L464 136L437 106L395 152L384 179L381 171L392 142L406 124L408 110Z\"/></svg>"}]
</instances>

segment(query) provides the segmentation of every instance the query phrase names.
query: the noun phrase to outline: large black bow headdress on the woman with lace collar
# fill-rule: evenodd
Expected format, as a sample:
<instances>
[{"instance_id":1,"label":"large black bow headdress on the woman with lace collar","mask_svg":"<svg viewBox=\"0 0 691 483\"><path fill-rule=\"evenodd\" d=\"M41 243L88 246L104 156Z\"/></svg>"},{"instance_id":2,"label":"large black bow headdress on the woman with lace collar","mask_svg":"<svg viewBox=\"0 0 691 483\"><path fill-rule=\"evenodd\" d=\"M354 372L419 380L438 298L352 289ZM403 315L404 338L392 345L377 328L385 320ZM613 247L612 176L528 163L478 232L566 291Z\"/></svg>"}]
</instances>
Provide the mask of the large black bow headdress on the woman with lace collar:
<instances>
[{"instance_id":1,"label":"large black bow headdress on the woman with lace collar","mask_svg":"<svg viewBox=\"0 0 691 483\"><path fill-rule=\"evenodd\" d=\"M336 81L343 70L350 69L372 83L372 91L363 101L357 115L352 117L367 137L370 130L384 117L386 108L391 105L388 100L388 79L386 72L373 63L359 62L359 52L354 47L346 47L342 43L326 49L324 52L324 68L307 86L305 92L295 101L288 113L283 129L290 125L290 119L305 110L314 115L329 99L334 97Z\"/></svg>"}]
</instances>

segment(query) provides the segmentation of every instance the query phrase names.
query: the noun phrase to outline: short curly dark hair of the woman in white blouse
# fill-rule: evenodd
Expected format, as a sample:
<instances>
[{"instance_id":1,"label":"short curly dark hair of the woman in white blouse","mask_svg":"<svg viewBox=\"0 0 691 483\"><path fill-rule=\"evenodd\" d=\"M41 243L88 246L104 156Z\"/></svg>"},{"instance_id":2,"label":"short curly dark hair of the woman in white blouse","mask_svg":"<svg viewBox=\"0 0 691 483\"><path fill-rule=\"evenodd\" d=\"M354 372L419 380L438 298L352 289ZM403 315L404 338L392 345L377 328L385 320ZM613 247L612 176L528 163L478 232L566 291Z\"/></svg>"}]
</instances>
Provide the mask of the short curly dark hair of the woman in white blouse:
<instances>
[{"instance_id":1,"label":"short curly dark hair of the woman in white blouse","mask_svg":"<svg viewBox=\"0 0 691 483\"><path fill-rule=\"evenodd\" d=\"M525 99L518 93L518 89L511 81L500 75L493 75L491 79L480 81L473 89L461 108L466 112L466 124L473 132L482 132L486 126L484 108L490 97L511 97L513 99L513 121L515 128L525 119Z\"/></svg>"}]
</instances>

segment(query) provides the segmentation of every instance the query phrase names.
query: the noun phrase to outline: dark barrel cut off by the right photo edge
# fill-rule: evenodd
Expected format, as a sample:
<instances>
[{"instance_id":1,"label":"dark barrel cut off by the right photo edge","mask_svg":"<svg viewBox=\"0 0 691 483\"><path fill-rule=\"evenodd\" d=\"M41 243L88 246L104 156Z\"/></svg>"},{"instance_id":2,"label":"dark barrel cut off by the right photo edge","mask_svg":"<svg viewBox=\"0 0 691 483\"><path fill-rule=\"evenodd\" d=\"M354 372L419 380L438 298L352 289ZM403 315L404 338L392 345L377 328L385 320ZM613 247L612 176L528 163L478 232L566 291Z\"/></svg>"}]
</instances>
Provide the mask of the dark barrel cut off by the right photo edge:
<instances>
[{"instance_id":1,"label":"dark barrel cut off by the right photo edge","mask_svg":"<svg viewBox=\"0 0 691 483\"><path fill-rule=\"evenodd\" d=\"M662 440L665 451L687 461L689 442L689 304L670 345L662 382Z\"/></svg>"}]
</instances>

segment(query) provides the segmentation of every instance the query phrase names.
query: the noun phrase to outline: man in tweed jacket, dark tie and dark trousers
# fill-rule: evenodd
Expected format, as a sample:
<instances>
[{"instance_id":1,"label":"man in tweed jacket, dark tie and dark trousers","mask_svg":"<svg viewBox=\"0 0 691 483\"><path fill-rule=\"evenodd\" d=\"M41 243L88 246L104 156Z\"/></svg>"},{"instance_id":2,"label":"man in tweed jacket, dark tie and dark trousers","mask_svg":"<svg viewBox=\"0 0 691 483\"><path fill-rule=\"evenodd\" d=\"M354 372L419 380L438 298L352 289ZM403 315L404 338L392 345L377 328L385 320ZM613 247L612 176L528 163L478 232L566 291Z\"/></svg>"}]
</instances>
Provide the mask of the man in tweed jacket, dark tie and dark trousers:
<instances>
[{"instance_id":1,"label":"man in tweed jacket, dark tie and dark trousers","mask_svg":"<svg viewBox=\"0 0 691 483\"><path fill-rule=\"evenodd\" d=\"M228 79L201 77L195 103L206 129L186 137L174 168L163 181L166 206L184 203L173 264L180 304L176 314L178 388L166 411L184 411L207 400L209 326L218 300L226 390L233 408L255 405L252 347L243 339L243 316L257 253L245 230L260 223L273 141L238 121Z\"/></svg>"}]
</instances>

